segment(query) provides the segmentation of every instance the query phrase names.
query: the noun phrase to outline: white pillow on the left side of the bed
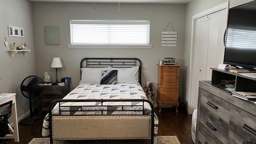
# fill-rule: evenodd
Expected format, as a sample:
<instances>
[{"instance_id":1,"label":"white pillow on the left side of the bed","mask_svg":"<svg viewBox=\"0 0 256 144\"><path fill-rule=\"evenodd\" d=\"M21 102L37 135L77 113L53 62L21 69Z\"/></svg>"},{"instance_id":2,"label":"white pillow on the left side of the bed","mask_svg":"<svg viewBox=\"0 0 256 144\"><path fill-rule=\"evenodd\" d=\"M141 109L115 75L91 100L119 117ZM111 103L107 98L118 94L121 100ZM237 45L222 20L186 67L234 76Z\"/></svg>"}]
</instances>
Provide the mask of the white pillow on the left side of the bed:
<instances>
[{"instance_id":1,"label":"white pillow on the left side of the bed","mask_svg":"<svg viewBox=\"0 0 256 144\"><path fill-rule=\"evenodd\" d=\"M108 68L81 68L81 80L79 84L100 84L101 71L110 70Z\"/></svg>"}]
</instances>

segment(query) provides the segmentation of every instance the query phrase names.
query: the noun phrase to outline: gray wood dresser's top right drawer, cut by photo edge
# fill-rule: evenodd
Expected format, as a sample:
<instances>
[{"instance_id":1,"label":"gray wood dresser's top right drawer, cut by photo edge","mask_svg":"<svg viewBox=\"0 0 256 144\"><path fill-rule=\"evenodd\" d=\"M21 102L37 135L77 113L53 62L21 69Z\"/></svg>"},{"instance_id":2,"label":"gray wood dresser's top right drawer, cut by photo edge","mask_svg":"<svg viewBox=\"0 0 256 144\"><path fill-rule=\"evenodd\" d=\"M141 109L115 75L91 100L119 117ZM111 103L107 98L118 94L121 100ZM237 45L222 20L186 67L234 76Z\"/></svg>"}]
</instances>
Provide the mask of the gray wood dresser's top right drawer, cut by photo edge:
<instances>
[{"instance_id":1,"label":"gray wood dresser's top right drawer, cut by photo edge","mask_svg":"<svg viewBox=\"0 0 256 144\"><path fill-rule=\"evenodd\" d=\"M256 142L256 116L232 105L230 130L247 142Z\"/></svg>"}]
</instances>

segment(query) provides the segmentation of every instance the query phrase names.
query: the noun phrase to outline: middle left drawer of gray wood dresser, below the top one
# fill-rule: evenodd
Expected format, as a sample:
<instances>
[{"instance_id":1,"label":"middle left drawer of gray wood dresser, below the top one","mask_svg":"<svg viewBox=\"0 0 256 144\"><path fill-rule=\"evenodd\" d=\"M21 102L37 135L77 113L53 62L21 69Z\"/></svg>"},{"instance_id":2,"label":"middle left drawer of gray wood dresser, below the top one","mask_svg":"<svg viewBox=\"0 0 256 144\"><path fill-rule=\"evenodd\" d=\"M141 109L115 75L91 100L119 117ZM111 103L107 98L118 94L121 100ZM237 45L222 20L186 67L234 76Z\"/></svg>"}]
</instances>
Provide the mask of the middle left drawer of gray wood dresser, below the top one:
<instances>
[{"instance_id":1,"label":"middle left drawer of gray wood dresser, below the top one","mask_svg":"<svg viewBox=\"0 0 256 144\"><path fill-rule=\"evenodd\" d=\"M218 116L209 114L207 110L200 107L199 126L212 136L216 141L220 140L228 144L228 123L223 120L219 121Z\"/></svg>"}]
</instances>

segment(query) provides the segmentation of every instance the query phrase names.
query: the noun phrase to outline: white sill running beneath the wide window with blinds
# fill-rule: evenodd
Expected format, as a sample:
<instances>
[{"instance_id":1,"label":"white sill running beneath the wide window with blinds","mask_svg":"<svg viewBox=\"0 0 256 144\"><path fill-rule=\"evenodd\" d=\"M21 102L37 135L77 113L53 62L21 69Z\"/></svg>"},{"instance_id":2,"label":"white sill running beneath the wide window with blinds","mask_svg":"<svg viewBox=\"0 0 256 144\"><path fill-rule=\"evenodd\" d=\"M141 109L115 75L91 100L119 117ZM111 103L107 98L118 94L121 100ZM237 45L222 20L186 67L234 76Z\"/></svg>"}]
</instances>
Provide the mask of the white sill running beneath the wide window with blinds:
<instances>
[{"instance_id":1,"label":"white sill running beneath the wide window with blinds","mask_svg":"<svg viewBox=\"0 0 256 144\"><path fill-rule=\"evenodd\" d=\"M152 48L152 45L68 44L68 48Z\"/></svg>"}]
</instances>

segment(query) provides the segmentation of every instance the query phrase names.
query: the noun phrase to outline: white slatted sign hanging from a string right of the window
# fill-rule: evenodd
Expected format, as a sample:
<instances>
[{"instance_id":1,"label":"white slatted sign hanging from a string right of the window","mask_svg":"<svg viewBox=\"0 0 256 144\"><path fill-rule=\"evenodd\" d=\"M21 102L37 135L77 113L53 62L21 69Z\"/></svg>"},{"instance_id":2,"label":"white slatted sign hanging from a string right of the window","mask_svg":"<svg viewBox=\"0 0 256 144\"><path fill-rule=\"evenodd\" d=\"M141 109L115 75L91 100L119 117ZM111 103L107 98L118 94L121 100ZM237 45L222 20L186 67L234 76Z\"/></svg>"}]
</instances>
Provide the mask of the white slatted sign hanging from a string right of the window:
<instances>
[{"instance_id":1,"label":"white slatted sign hanging from a string right of the window","mask_svg":"<svg viewBox=\"0 0 256 144\"><path fill-rule=\"evenodd\" d=\"M169 25L172 26L172 24L169 22L169 24L166 26L166 28ZM175 32L173 27L172 27L172 29L174 31L166 32L166 28L165 28L164 32L162 32L161 46L177 46L177 34L178 34L178 32Z\"/></svg>"}]
</instances>

